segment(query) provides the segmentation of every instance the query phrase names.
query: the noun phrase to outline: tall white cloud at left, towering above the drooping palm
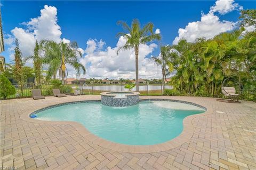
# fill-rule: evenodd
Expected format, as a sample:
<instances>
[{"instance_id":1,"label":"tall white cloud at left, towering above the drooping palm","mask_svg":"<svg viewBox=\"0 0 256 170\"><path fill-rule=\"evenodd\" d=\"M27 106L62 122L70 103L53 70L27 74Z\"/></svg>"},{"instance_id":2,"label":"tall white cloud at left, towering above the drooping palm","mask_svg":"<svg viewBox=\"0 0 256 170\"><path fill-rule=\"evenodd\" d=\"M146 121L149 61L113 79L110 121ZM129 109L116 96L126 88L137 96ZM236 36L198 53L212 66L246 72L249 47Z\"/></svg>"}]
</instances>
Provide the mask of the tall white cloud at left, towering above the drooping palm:
<instances>
[{"instance_id":1,"label":"tall white cloud at left, towering above the drooping palm","mask_svg":"<svg viewBox=\"0 0 256 170\"><path fill-rule=\"evenodd\" d=\"M36 40L41 41L42 39L50 39L55 42L61 41L60 26L57 24L57 8L44 5L44 9L40 12L41 14L39 17L32 18L29 22L23 23L23 25L27 26L27 29L15 27L11 30L12 37L9 38L18 39L23 56L33 54ZM10 39L7 39L7 43L10 41ZM69 40L63 38L63 41L67 42ZM13 44L10 45L8 49L9 51L13 50L12 46Z\"/></svg>"}]
</instances>

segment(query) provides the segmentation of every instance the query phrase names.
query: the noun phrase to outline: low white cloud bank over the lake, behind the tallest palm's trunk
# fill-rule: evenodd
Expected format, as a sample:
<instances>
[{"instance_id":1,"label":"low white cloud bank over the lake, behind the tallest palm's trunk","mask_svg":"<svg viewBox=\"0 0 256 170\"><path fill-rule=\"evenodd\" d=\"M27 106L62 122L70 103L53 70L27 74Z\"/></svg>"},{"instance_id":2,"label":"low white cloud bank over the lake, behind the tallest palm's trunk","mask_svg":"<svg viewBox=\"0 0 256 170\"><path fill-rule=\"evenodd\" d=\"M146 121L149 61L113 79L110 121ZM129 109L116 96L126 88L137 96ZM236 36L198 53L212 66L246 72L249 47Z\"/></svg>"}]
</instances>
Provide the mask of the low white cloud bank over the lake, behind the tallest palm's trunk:
<instances>
[{"instance_id":1,"label":"low white cloud bank over the lake, behind the tallest palm's trunk","mask_svg":"<svg viewBox=\"0 0 256 170\"><path fill-rule=\"evenodd\" d=\"M125 39L120 37L116 47L108 46L106 50L101 50L103 41L89 39L87 41L86 55L81 62L86 65L86 77L94 78L135 78L135 55L133 50L119 51L117 50L123 44ZM153 63L146 56L150 55L156 44L140 45L139 51L139 77L140 78L157 78L161 76L160 67ZM69 70L71 72L71 69ZM69 77L75 75L69 74Z\"/></svg>"}]
</instances>

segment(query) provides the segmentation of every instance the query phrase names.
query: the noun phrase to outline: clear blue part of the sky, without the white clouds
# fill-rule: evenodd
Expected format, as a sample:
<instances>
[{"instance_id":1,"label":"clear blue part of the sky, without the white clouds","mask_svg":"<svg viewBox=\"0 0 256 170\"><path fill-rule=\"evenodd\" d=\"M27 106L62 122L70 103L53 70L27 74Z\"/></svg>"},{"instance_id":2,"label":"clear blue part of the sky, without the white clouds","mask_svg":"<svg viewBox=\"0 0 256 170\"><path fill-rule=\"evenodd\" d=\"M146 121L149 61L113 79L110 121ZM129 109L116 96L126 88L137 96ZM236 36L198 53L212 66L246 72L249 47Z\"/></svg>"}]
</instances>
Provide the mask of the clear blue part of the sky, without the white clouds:
<instances>
[{"instance_id":1,"label":"clear blue part of the sky, without the white clouds","mask_svg":"<svg viewBox=\"0 0 256 170\"><path fill-rule=\"evenodd\" d=\"M15 27L33 32L27 29L24 22L39 17L40 10L48 5L57 9L57 25L61 28L61 39L76 41L84 51L88 47L86 42L90 39L98 44L102 39L105 44L99 50L106 51L108 46L116 47L119 40L116 34L122 31L122 27L117 26L118 20L130 24L132 19L137 18L142 25L149 21L153 22L155 29L158 28L161 31L161 44L172 44L174 38L179 36L179 28L185 29L189 22L201 21L202 13L209 13L215 1L1 1L1 4L5 39L15 38L11 32ZM239 17L239 6L243 6L243 9L256 7L254 1L235 1L230 4L238 4L238 6L224 13L217 9L214 11L214 17L217 16L220 22L227 20L235 23ZM2 55L5 56L6 62L10 62L13 53L10 48L12 45L9 41L6 42L6 51ZM159 45L159 42L154 43ZM143 57L158 55L158 49L154 47L154 50L145 53ZM84 58L86 55L89 54L85 52ZM90 63L89 61L85 64L90 67ZM122 72L122 69L119 71Z\"/></svg>"}]
</instances>

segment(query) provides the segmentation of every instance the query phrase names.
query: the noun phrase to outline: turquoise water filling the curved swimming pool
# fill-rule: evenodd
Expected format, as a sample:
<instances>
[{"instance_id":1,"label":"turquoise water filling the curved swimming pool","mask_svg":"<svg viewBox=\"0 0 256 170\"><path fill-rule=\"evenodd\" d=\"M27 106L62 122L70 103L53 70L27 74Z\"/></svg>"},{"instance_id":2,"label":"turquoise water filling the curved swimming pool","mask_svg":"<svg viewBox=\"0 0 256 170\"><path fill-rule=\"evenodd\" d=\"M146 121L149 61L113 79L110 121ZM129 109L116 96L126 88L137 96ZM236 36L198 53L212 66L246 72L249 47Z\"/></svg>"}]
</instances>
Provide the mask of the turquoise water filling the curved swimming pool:
<instances>
[{"instance_id":1,"label":"turquoise water filling the curved swimming pool","mask_svg":"<svg viewBox=\"0 0 256 170\"><path fill-rule=\"evenodd\" d=\"M38 112L35 119L75 121L103 139L129 145L152 145L177 137L183 119L204 112L179 102L142 101L130 107L108 107L100 102L67 104Z\"/></svg>"}]
</instances>

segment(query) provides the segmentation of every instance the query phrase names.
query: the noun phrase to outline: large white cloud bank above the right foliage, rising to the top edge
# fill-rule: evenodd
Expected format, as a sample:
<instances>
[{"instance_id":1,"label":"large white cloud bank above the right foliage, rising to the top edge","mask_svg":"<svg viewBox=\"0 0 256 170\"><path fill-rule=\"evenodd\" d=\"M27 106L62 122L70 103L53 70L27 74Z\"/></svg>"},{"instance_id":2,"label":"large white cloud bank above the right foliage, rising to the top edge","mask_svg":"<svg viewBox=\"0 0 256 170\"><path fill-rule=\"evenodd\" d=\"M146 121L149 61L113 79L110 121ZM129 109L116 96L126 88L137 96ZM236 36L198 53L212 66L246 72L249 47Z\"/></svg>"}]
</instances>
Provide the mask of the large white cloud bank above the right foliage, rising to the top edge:
<instances>
[{"instance_id":1,"label":"large white cloud bank above the right foliage, rising to the top edge","mask_svg":"<svg viewBox=\"0 0 256 170\"><path fill-rule=\"evenodd\" d=\"M215 5L211 6L209 13L202 14L200 21L189 22L185 28L180 28L179 36L175 37L173 44L177 44L181 39L186 39L188 42L194 42L199 37L209 39L220 33L233 30L236 22L221 21L214 12L225 14L238 8L241 9L242 6L234 3L233 0L216 1Z\"/></svg>"}]
</instances>

